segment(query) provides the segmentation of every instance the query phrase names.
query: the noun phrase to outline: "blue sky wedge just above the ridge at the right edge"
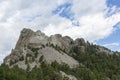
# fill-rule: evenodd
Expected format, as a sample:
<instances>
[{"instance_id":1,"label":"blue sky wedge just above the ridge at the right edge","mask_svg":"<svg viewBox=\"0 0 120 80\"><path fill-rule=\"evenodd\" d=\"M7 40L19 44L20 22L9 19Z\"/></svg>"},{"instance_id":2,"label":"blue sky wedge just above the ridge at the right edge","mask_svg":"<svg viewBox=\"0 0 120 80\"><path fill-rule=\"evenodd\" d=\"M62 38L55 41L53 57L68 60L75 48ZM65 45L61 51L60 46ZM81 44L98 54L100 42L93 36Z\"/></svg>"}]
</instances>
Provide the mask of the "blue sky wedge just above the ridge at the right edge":
<instances>
[{"instance_id":1,"label":"blue sky wedge just above the ridge at the right edge","mask_svg":"<svg viewBox=\"0 0 120 80\"><path fill-rule=\"evenodd\" d=\"M120 25L116 25L120 26ZM108 37L97 41L98 45L103 45L113 51L120 51L120 28L115 30Z\"/></svg>"}]
</instances>

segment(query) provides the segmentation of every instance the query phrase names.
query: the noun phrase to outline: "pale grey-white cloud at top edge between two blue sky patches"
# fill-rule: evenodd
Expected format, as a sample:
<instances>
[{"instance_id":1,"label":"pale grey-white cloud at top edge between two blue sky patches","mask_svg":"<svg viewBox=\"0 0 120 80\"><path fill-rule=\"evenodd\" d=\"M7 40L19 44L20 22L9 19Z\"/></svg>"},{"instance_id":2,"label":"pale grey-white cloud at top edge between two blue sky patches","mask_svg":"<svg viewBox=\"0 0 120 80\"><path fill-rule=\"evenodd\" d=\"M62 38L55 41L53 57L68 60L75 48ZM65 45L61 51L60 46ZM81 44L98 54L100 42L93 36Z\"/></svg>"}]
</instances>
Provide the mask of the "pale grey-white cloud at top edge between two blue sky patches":
<instances>
[{"instance_id":1,"label":"pale grey-white cloud at top edge between two blue sky patches","mask_svg":"<svg viewBox=\"0 0 120 80\"><path fill-rule=\"evenodd\" d=\"M73 0L72 11L76 18L101 13L106 9L106 0Z\"/></svg>"}]
</instances>

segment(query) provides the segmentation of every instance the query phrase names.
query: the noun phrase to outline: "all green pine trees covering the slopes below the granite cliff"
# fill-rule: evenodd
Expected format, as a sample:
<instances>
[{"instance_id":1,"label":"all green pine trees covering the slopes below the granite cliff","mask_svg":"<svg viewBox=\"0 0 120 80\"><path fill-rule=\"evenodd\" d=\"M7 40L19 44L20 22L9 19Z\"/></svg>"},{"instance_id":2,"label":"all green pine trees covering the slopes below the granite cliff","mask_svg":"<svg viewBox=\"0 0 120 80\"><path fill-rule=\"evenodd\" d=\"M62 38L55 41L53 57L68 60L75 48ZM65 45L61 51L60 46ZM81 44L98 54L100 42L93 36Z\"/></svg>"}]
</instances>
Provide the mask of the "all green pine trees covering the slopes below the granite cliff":
<instances>
[{"instance_id":1,"label":"all green pine trees covering the slopes below the granite cliff","mask_svg":"<svg viewBox=\"0 0 120 80\"><path fill-rule=\"evenodd\" d=\"M62 51L58 46L53 44L46 44L52 46L58 51ZM107 49L106 49L107 50ZM35 53L37 50L33 50ZM69 80L60 74L60 71L68 75L75 76L78 80L120 80L120 54L116 52L113 55L99 52L96 45L88 44L85 48L85 53L81 53L77 47L73 50L76 55L72 55L80 65L76 68L70 68L67 64L59 64L54 61L46 64L43 61L43 56L39 58L41 66L34 67L32 70L28 65L27 70L22 70L17 66L9 69L8 66L2 64L0 66L0 80ZM35 60L35 56L26 55L25 63L28 64L29 59ZM37 54L36 54L37 56ZM23 58L20 59L21 61ZM10 65L14 62L10 61Z\"/></svg>"}]
</instances>

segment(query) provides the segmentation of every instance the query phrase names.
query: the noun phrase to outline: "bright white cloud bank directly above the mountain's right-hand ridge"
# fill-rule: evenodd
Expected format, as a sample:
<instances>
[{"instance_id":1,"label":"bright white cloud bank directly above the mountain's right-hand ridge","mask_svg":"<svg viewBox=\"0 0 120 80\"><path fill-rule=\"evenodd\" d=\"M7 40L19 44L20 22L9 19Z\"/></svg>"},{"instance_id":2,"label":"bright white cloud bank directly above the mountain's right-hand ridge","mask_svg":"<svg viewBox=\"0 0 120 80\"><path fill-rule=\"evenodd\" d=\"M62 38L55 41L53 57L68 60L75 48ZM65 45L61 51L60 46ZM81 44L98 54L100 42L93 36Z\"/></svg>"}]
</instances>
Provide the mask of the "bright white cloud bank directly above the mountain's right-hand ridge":
<instances>
[{"instance_id":1,"label":"bright white cloud bank directly above the mountain's right-hand ridge","mask_svg":"<svg viewBox=\"0 0 120 80\"><path fill-rule=\"evenodd\" d=\"M48 35L60 33L69 35L72 38L83 37L89 41L103 39L109 36L113 31L113 26L120 20L120 14L111 17L104 17L104 14L94 14L82 16L79 19L80 27L73 26L71 21L64 20L56 25L51 24L46 27L44 32Z\"/></svg>"}]
</instances>

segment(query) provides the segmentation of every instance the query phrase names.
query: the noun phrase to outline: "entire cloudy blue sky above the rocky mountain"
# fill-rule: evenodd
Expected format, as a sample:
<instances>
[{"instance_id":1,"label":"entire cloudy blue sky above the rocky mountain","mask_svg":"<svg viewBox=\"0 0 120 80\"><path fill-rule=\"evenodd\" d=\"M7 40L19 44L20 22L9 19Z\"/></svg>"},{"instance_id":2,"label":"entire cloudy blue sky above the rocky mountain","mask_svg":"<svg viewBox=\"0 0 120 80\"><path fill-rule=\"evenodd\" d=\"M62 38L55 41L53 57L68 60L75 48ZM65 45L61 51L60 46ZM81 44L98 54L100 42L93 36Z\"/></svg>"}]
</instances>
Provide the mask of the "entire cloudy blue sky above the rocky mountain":
<instances>
[{"instance_id":1,"label":"entire cloudy blue sky above the rocky mountain","mask_svg":"<svg viewBox=\"0 0 120 80\"><path fill-rule=\"evenodd\" d=\"M120 51L119 22L120 0L0 0L0 62L23 28L82 37Z\"/></svg>"}]
</instances>

